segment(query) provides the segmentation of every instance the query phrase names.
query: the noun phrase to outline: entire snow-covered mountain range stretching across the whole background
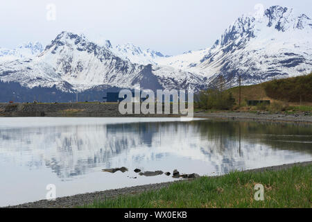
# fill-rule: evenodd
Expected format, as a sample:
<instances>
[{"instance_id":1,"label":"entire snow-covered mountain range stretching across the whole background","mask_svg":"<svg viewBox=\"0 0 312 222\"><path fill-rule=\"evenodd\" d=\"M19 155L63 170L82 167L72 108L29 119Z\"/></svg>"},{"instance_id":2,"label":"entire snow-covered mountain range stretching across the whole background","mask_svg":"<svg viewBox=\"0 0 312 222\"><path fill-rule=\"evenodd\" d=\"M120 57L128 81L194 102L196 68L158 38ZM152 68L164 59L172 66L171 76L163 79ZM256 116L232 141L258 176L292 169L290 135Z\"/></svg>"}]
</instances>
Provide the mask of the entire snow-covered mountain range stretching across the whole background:
<instances>
[{"instance_id":1,"label":"entire snow-covered mountain range stretching across the whole background","mask_svg":"<svg viewBox=\"0 0 312 222\"><path fill-rule=\"evenodd\" d=\"M27 87L56 85L63 91L137 84L146 89L203 89L220 75L231 86L239 76L251 85L310 73L311 34L308 16L281 6L268 8L263 17L239 17L210 48L178 56L133 44L113 46L108 40L96 44L84 35L62 32L44 50L40 44L14 50L19 53L2 50L4 58L12 54L15 59L0 59L0 80Z\"/></svg>"}]
</instances>

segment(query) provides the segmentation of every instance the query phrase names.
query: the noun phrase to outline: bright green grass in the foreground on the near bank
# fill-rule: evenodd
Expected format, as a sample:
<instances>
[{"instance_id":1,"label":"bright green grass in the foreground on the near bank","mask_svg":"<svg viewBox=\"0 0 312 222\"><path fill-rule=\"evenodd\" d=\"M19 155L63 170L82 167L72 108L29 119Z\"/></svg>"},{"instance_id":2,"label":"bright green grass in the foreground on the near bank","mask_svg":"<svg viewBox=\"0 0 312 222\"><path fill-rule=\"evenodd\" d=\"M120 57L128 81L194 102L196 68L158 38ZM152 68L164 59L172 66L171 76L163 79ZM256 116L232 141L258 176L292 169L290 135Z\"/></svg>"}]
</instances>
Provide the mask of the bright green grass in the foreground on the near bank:
<instances>
[{"instance_id":1,"label":"bright green grass in the foreground on the near bank","mask_svg":"<svg viewBox=\"0 0 312 222\"><path fill-rule=\"evenodd\" d=\"M159 191L119 196L83 207L308 207L312 165L282 171L232 172L216 178L177 182ZM264 186L263 201L254 200L254 185Z\"/></svg>"}]
</instances>

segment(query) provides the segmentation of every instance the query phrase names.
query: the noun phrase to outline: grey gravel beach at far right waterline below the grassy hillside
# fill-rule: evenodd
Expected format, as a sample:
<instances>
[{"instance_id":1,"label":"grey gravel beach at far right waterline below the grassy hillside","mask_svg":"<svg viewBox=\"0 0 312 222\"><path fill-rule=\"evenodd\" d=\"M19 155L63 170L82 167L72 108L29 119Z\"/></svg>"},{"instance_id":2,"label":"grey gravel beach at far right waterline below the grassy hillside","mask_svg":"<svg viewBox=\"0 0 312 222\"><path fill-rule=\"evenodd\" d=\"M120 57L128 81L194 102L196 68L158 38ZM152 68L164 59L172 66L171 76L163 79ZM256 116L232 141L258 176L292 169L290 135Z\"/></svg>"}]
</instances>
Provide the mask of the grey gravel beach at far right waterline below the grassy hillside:
<instances>
[{"instance_id":1,"label":"grey gravel beach at far right waterline below the grassy hillside","mask_svg":"<svg viewBox=\"0 0 312 222\"><path fill-rule=\"evenodd\" d=\"M196 112L194 117L227 119L231 121L270 121L291 123L312 123L312 116L307 112L298 114L268 114L266 112Z\"/></svg>"}]
</instances>

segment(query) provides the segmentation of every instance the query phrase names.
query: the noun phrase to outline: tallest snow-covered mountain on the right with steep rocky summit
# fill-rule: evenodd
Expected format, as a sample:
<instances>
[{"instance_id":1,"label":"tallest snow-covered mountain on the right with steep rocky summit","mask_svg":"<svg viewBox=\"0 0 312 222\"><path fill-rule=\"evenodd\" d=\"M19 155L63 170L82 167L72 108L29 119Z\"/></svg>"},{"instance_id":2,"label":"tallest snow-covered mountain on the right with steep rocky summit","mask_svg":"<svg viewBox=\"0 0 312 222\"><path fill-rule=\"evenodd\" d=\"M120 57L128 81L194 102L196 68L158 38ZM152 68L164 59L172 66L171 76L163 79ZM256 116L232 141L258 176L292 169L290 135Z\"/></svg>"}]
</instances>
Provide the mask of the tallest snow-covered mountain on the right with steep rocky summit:
<instances>
[{"instance_id":1,"label":"tallest snow-covered mountain on the right with steep rocky summit","mask_svg":"<svg viewBox=\"0 0 312 222\"><path fill-rule=\"evenodd\" d=\"M182 67L209 81L222 75L232 86L241 75L243 84L252 85L309 74L311 37L309 17L291 8L272 6L261 18L239 17L210 49L165 58L159 64Z\"/></svg>"}]
</instances>

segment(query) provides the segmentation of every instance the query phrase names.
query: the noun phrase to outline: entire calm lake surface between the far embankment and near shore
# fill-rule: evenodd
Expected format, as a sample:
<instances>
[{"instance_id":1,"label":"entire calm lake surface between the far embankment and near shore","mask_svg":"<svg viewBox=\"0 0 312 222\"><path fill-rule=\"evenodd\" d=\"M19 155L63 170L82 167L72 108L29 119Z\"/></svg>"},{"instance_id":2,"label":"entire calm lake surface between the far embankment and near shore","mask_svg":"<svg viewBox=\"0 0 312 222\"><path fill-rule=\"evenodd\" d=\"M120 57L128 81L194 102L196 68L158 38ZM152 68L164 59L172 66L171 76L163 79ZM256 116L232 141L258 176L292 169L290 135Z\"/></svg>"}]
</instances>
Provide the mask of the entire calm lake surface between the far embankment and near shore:
<instances>
[{"instance_id":1,"label":"entire calm lake surface between the far embankment and near shore","mask_svg":"<svg viewBox=\"0 0 312 222\"><path fill-rule=\"evenodd\" d=\"M1 118L0 206L312 160L312 127L175 118ZM101 169L127 167L112 174ZM133 178L137 176L137 178Z\"/></svg>"}]
</instances>

